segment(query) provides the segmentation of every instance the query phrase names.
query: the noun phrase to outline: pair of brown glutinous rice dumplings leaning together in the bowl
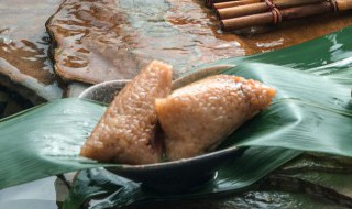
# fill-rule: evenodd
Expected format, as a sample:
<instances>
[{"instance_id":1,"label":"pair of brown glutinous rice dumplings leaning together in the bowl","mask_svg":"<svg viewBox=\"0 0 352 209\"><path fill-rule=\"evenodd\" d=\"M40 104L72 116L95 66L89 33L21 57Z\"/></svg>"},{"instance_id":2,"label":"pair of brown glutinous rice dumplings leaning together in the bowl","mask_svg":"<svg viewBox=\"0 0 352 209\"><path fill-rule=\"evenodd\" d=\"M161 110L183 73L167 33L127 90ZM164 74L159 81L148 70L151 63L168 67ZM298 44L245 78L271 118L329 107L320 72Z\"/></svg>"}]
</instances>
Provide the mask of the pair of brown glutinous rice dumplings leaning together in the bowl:
<instances>
[{"instance_id":1,"label":"pair of brown glutinous rice dumplings leaning together in the bowl","mask_svg":"<svg viewBox=\"0 0 352 209\"><path fill-rule=\"evenodd\" d=\"M193 157L215 148L274 96L260 81L231 75L172 91L172 66L154 61L114 97L80 154L121 164ZM165 148L155 138L158 123Z\"/></svg>"}]
</instances>

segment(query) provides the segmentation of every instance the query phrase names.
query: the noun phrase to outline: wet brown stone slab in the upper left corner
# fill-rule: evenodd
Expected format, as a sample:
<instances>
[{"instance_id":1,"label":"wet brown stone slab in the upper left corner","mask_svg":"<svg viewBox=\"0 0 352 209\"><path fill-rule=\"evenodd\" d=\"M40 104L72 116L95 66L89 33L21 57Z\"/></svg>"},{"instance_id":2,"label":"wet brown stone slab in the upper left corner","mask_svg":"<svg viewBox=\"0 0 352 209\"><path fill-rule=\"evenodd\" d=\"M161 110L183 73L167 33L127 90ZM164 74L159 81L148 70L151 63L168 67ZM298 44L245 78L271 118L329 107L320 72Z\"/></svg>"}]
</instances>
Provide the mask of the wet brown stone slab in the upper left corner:
<instances>
[{"instance_id":1,"label":"wet brown stone slab in the upper left corner","mask_svg":"<svg viewBox=\"0 0 352 209\"><path fill-rule=\"evenodd\" d=\"M0 85L33 103L57 99L63 95L47 57L50 37L44 26L59 2L0 2Z\"/></svg>"}]
</instances>

